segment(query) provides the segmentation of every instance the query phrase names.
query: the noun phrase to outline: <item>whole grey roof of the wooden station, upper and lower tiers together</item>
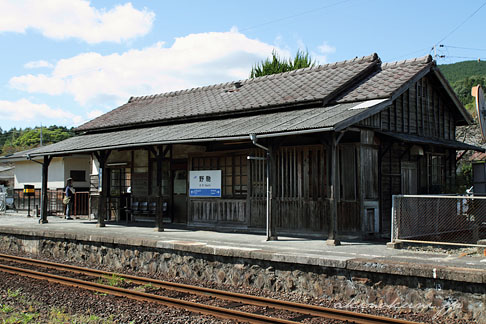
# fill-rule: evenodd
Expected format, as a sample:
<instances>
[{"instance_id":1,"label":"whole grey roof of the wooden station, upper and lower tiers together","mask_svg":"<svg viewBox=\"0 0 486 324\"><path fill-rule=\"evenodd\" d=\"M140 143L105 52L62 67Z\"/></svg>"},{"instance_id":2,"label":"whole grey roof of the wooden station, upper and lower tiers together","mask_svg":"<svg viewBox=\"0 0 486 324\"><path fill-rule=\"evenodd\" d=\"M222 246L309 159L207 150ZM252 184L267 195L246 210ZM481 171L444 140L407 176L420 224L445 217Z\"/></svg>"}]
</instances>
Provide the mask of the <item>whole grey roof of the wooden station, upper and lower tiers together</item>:
<instances>
[{"instance_id":1,"label":"whole grey roof of the wooden station, upper and lower tiers together","mask_svg":"<svg viewBox=\"0 0 486 324\"><path fill-rule=\"evenodd\" d=\"M252 133L274 137L338 131L386 108L410 82L434 67L430 56L381 64L373 54L237 83L131 98L125 105L78 127L78 131L86 131L83 135L30 154L248 140ZM434 143L476 149L457 141L439 142Z\"/></svg>"}]
</instances>

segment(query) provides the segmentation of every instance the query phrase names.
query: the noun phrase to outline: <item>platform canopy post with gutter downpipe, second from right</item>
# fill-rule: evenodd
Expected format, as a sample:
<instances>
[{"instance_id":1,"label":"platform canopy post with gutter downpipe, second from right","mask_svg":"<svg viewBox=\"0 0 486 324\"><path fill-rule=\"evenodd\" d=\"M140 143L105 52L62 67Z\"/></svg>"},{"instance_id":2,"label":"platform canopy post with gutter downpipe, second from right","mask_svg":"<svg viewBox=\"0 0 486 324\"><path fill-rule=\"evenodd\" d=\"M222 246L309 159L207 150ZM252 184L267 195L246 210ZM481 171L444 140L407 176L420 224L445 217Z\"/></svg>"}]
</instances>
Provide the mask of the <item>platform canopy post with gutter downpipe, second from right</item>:
<instances>
[{"instance_id":1,"label":"platform canopy post with gutter downpipe, second from right","mask_svg":"<svg viewBox=\"0 0 486 324\"><path fill-rule=\"evenodd\" d=\"M272 143L269 147L268 151L268 160L267 160L267 172L269 173L268 181L270 182L270 213L269 213L269 220L268 220L268 233L267 233L267 241L276 241L278 240L277 231L276 231L276 220L277 220L277 150L278 145Z\"/></svg>"}]
</instances>

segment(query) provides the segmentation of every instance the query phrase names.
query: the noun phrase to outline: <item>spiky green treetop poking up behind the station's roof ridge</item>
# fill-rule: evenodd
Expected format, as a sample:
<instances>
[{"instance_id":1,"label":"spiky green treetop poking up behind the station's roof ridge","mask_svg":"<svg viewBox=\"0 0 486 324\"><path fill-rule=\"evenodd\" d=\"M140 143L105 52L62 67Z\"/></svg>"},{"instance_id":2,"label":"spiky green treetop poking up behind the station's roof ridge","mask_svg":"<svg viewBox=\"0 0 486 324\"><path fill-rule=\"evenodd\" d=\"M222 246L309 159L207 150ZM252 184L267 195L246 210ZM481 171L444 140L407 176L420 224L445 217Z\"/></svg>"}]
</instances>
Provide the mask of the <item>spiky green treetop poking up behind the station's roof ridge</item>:
<instances>
[{"instance_id":1,"label":"spiky green treetop poking up behind the station's roof ridge","mask_svg":"<svg viewBox=\"0 0 486 324\"><path fill-rule=\"evenodd\" d=\"M250 72L250 78L257 78L264 75L282 73L297 69L302 69L306 67L313 67L316 63L311 59L308 52L303 52L298 50L295 54L294 59L281 59L278 54L273 51L272 58L267 58L266 60L256 64L252 67Z\"/></svg>"}]
</instances>

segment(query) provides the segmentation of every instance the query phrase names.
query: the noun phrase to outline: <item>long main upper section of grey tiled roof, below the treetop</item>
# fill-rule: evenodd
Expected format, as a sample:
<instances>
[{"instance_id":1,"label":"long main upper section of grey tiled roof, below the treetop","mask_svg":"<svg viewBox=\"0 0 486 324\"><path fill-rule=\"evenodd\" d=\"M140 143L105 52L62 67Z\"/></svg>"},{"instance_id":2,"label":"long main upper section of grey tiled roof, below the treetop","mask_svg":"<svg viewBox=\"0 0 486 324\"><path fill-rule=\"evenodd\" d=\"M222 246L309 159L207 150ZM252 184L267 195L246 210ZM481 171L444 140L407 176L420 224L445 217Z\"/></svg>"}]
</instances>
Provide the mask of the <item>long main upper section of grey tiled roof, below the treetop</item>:
<instances>
[{"instance_id":1,"label":"long main upper section of grey tiled roof, below the treetop","mask_svg":"<svg viewBox=\"0 0 486 324\"><path fill-rule=\"evenodd\" d=\"M131 98L128 103L77 128L78 131L221 116L275 106L320 101L380 64L376 54L239 82Z\"/></svg>"}]
</instances>

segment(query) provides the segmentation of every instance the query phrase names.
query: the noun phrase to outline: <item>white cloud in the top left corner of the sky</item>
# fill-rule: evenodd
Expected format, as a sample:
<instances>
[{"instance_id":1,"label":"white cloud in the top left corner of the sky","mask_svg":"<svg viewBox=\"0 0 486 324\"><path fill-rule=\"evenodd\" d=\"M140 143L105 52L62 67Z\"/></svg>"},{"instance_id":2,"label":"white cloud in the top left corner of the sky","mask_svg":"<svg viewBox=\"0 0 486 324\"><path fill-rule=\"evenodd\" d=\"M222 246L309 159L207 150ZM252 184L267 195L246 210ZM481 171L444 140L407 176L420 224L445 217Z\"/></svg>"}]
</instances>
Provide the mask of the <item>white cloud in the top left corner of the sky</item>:
<instances>
[{"instance_id":1,"label":"white cloud in the top left corner of the sky","mask_svg":"<svg viewBox=\"0 0 486 324\"><path fill-rule=\"evenodd\" d=\"M0 13L0 32L23 33L32 28L49 38L79 38L88 43L119 43L143 36L155 17L131 3L107 11L87 0L2 0Z\"/></svg>"}]
</instances>

